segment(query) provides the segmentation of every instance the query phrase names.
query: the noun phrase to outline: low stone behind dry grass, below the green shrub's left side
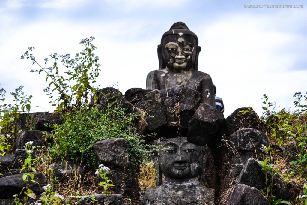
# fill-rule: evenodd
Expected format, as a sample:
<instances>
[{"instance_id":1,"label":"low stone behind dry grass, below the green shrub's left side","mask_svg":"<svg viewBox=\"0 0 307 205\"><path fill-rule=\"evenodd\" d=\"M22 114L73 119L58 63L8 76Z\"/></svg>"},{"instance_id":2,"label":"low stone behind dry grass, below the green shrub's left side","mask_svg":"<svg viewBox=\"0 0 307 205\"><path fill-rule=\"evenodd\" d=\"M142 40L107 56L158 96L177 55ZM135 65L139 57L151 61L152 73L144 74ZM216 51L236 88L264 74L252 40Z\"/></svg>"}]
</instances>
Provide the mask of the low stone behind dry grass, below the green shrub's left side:
<instances>
[{"instance_id":1,"label":"low stone behind dry grass, below the green shrub's left side","mask_svg":"<svg viewBox=\"0 0 307 205\"><path fill-rule=\"evenodd\" d=\"M74 173L82 174L85 171L85 166L82 163L74 163L68 160L66 163L54 162L49 166L53 170L53 177L63 178Z\"/></svg>"}]
</instances>

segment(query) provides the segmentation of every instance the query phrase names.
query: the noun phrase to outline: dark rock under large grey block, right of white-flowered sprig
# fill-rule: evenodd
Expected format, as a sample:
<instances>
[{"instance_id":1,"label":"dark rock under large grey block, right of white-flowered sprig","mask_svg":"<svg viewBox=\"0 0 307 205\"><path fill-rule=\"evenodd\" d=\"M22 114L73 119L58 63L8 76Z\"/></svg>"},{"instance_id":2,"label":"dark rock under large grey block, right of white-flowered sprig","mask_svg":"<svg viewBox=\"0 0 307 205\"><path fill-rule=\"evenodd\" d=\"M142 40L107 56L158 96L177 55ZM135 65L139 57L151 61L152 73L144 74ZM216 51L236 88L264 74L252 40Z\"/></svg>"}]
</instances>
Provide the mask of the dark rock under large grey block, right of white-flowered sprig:
<instances>
[{"instance_id":1,"label":"dark rock under large grey block, right of white-flowered sprig","mask_svg":"<svg viewBox=\"0 0 307 205\"><path fill-rule=\"evenodd\" d=\"M115 185L110 187L114 193L121 194L124 198L132 199L132 176L130 169L113 169L107 173L108 179ZM99 179L98 179L99 180Z\"/></svg>"}]
</instances>

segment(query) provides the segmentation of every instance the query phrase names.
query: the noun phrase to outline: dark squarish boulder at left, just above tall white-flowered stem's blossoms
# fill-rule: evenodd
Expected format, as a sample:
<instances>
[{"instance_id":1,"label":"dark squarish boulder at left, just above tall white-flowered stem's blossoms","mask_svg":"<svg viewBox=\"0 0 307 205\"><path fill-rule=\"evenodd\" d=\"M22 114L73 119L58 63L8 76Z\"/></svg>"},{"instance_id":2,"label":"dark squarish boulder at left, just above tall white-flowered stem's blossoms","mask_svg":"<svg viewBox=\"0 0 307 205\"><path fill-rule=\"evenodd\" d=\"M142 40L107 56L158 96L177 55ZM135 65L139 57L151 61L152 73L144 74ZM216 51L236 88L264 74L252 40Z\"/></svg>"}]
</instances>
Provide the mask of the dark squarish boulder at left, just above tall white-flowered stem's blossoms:
<instances>
[{"instance_id":1,"label":"dark squarish boulder at left, just above tall white-flowered stem's blossoms","mask_svg":"<svg viewBox=\"0 0 307 205\"><path fill-rule=\"evenodd\" d=\"M45 147L47 139L44 132L46 131L41 131L41 130L22 131L21 136L17 137L16 140L17 149L24 149L25 144L29 141L33 141L32 146Z\"/></svg>"}]
</instances>

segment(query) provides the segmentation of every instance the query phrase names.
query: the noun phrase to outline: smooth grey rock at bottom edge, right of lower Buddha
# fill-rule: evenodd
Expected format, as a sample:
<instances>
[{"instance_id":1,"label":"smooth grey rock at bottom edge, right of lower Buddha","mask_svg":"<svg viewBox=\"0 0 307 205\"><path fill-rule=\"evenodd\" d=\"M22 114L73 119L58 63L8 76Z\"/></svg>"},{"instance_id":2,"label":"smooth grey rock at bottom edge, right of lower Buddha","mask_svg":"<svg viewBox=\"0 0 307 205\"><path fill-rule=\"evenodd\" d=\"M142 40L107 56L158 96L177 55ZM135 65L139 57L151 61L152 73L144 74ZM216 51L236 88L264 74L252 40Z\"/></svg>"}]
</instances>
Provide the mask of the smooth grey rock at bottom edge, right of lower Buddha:
<instances>
[{"instance_id":1,"label":"smooth grey rock at bottom edge, right of lower Buddha","mask_svg":"<svg viewBox=\"0 0 307 205\"><path fill-rule=\"evenodd\" d=\"M270 205L270 202L257 188L236 184L228 199L228 205Z\"/></svg>"}]
</instances>

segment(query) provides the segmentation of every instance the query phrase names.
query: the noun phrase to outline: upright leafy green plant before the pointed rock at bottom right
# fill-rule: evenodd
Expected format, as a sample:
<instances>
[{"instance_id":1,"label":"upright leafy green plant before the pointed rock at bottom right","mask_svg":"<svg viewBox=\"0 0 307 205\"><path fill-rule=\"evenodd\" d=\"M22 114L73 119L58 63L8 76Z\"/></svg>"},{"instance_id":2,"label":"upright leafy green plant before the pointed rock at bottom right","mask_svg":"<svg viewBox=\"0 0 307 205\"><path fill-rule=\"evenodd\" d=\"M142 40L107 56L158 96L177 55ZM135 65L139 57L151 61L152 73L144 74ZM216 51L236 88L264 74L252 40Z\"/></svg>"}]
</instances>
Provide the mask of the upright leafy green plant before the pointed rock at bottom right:
<instances>
[{"instance_id":1,"label":"upright leafy green plant before the pointed rock at bottom right","mask_svg":"<svg viewBox=\"0 0 307 205\"><path fill-rule=\"evenodd\" d=\"M274 175L276 175L278 173L278 171L273 171L272 167L273 167L274 164L268 164L269 161L270 161L269 158L266 158L264 161L258 162L259 164L261 164L264 167L261 170L262 170L263 174L265 174L265 176L266 176L266 181L265 181L266 188L265 188L265 192L263 190L261 190L262 194L266 197L266 199L269 200L271 205L277 205L277 204L280 204L280 203L291 204L288 201L282 201L282 199L277 199L275 201L276 197L273 195L273 187L276 184L273 184L273 177L274 177ZM269 179L268 173L271 177L271 180Z\"/></svg>"}]
</instances>

